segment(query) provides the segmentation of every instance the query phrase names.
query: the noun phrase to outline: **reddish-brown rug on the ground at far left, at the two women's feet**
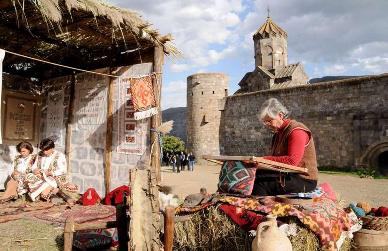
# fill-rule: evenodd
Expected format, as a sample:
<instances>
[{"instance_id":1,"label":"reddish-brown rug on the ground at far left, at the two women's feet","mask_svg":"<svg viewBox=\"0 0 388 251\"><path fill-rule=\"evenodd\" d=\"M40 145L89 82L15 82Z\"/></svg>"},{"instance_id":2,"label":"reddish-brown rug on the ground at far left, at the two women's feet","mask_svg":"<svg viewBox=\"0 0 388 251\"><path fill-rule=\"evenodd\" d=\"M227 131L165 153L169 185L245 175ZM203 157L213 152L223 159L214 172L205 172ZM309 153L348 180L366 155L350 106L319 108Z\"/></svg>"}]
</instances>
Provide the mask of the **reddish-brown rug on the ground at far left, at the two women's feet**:
<instances>
[{"instance_id":1,"label":"reddish-brown rug on the ground at far left, at the two women's feet","mask_svg":"<svg viewBox=\"0 0 388 251\"><path fill-rule=\"evenodd\" d=\"M0 223L20 220L33 214L47 213L65 208L67 204L50 202L2 203L0 204Z\"/></svg>"}]
</instances>

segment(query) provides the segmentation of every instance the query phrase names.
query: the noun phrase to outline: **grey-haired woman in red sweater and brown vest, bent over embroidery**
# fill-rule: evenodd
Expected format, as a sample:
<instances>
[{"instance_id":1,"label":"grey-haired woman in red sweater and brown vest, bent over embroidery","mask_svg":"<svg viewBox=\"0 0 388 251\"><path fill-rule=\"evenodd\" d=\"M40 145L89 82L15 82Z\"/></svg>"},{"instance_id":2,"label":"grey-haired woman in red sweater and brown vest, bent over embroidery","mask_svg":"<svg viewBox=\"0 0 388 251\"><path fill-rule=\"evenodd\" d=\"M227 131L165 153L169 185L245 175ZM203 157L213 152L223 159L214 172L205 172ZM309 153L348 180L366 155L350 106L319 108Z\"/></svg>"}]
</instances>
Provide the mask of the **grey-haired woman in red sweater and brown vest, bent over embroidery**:
<instances>
[{"instance_id":1,"label":"grey-haired woman in red sweater and brown vest, bent over embroidery","mask_svg":"<svg viewBox=\"0 0 388 251\"><path fill-rule=\"evenodd\" d=\"M288 119L288 110L275 98L264 102L259 119L275 132L270 156L263 158L307 168L308 174L257 170L252 194L267 196L314 190L318 169L311 131L302 123Z\"/></svg>"}]
</instances>

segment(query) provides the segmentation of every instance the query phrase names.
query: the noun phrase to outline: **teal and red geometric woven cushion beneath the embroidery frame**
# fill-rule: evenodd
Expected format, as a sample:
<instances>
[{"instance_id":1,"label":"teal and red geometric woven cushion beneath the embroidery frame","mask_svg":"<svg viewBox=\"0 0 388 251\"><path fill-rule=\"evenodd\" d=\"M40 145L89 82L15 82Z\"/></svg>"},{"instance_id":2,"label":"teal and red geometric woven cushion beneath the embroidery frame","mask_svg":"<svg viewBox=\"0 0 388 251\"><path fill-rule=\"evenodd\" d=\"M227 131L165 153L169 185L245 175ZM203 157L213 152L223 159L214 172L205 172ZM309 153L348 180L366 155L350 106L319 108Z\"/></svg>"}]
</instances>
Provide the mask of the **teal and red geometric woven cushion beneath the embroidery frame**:
<instances>
[{"instance_id":1,"label":"teal and red geometric woven cushion beneath the embroidery frame","mask_svg":"<svg viewBox=\"0 0 388 251\"><path fill-rule=\"evenodd\" d=\"M241 161L225 161L218 178L218 190L224 193L251 195L255 176L255 167Z\"/></svg>"}]
</instances>

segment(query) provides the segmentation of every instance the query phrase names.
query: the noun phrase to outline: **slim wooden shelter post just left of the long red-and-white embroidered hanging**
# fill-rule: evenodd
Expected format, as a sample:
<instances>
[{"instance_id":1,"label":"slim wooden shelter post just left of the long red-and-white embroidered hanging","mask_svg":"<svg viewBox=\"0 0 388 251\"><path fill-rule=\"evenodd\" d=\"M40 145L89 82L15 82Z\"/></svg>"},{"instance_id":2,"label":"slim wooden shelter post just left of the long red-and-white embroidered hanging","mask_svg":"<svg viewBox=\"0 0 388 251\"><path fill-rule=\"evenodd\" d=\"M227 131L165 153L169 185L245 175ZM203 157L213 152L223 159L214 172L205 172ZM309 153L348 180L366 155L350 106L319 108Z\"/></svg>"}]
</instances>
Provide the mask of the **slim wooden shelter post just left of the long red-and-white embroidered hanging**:
<instances>
[{"instance_id":1,"label":"slim wooden shelter post just left of the long red-and-white embroidered hanging","mask_svg":"<svg viewBox=\"0 0 388 251\"><path fill-rule=\"evenodd\" d=\"M112 45L111 49L111 66L109 74L113 75L113 67L116 59L116 45ZM109 77L109 94L108 94L108 110L106 122L106 145L105 145L105 194L111 190L111 159L112 159L112 123L113 123L113 88L114 77Z\"/></svg>"}]
</instances>

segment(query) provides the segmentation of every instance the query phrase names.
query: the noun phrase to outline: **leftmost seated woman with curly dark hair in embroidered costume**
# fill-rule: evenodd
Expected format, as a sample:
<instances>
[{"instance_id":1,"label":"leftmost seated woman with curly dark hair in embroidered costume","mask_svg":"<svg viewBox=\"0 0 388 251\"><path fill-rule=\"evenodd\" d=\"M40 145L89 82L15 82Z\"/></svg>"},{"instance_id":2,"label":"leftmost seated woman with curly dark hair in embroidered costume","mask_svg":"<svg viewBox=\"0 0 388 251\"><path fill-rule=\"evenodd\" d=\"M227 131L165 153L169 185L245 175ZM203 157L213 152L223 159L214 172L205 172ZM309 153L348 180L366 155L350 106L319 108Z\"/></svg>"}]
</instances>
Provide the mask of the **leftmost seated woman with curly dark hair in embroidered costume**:
<instances>
[{"instance_id":1,"label":"leftmost seated woman with curly dark hair in embroidered costume","mask_svg":"<svg viewBox=\"0 0 388 251\"><path fill-rule=\"evenodd\" d=\"M31 173L31 167L35 162L36 155L31 154L34 149L27 141L20 142L16 146L16 150L21 155L16 156L14 162L12 162L11 170L8 172L8 176L11 179L7 182L7 187L0 198L0 203L17 199L20 195L28 192L26 178L27 174Z\"/></svg>"}]
</instances>

